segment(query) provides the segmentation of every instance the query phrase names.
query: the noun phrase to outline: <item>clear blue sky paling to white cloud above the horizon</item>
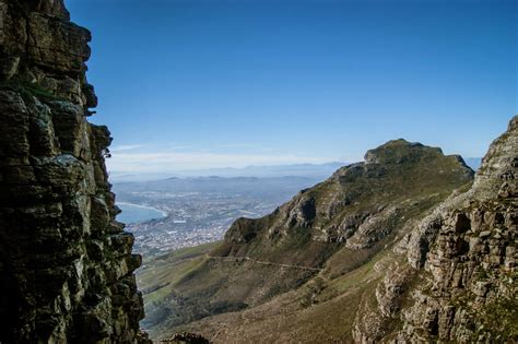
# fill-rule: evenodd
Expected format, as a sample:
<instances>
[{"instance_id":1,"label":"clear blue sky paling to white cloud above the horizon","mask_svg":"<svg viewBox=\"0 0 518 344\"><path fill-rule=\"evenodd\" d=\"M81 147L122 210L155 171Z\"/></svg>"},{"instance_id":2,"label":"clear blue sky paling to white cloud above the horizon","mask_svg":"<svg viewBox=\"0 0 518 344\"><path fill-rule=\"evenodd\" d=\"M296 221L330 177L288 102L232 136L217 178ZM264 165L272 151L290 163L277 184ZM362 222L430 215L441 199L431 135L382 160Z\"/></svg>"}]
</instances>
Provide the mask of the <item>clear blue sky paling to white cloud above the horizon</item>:
<instances>
[{"instance_id":1,"label":"clear blue sky paling to white cloud above the horizon","mask_svg":"<svg viewBox=\"0 0 518 344\"><path fill-rule=\"evenodd\" d=\"M482 156L518 112L516 1L66 2L111 170Z\"/></svg>"}]
</instances>

